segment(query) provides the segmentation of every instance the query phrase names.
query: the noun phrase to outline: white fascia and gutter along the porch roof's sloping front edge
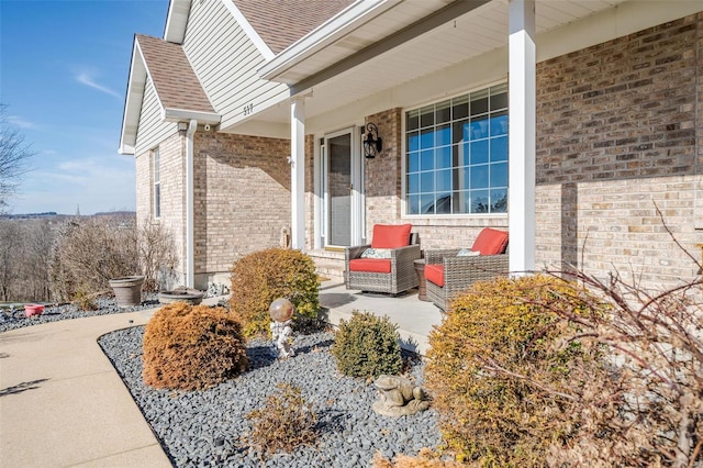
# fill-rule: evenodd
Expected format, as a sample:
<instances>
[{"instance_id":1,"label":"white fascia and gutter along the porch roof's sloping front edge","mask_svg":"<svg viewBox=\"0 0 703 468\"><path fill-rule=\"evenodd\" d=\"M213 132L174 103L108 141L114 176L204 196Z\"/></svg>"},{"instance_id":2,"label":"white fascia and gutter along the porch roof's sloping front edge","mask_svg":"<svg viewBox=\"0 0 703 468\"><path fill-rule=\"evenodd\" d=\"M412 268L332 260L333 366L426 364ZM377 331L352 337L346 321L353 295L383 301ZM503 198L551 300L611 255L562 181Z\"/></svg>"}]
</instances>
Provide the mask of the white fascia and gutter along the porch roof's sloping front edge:
<instances>
[{"instance_id":1,"label":"white fascia and gutter along the porch roof's sloping front edge","mask_svg":"<svg viewBox=\"0 0 703 468\"><path fill-rule=\"evenodd\" d=\"M359 0L353 3L259 68L259 78L276 81L291 67L398 3L400 0Z\"/></svg>"}]
</instances>

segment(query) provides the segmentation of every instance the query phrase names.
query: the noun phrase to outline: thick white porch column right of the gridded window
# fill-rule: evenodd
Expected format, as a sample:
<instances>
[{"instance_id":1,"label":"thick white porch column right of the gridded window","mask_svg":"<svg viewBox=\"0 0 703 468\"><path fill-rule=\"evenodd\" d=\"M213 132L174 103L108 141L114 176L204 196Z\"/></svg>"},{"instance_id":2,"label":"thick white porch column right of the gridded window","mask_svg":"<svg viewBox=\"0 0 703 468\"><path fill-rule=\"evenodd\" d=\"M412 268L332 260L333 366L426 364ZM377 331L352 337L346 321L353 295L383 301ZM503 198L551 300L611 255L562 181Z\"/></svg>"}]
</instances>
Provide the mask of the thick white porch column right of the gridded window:
<instances>
[{"instance_id":1,"label":"thick white porch column right of the gridded window","mask_svg":"<svg viewBox=\"0 0 703 468\"><path fill-rule=\"evenodd\" d=\"M510 270L535 269L535 0L510 0Z\"/></svg>"}]
</instances>

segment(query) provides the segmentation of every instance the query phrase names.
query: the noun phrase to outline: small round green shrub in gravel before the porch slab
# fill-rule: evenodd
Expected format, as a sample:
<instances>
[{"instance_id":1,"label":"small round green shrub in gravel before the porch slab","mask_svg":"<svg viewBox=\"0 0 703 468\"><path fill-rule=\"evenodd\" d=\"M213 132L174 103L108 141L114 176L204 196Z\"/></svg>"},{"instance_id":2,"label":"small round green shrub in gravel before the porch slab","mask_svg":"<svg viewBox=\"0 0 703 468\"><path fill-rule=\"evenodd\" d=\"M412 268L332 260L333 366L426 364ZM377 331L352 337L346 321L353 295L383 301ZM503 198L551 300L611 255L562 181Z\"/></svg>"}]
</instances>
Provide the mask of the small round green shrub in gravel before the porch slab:
<instances>
[{"instance_id":1,"label":"small round green shrub in gravel before the porch slab","mask_svg":"<svg viewBox=\"0 0 703 468\"><path fill-rule=\"evenodd\" d=\"M395 376L403 370L399 341L398 326L387 316L354 311L348 322L339 322L331 350L345 376Z\"/></svg>"}]
</instances>

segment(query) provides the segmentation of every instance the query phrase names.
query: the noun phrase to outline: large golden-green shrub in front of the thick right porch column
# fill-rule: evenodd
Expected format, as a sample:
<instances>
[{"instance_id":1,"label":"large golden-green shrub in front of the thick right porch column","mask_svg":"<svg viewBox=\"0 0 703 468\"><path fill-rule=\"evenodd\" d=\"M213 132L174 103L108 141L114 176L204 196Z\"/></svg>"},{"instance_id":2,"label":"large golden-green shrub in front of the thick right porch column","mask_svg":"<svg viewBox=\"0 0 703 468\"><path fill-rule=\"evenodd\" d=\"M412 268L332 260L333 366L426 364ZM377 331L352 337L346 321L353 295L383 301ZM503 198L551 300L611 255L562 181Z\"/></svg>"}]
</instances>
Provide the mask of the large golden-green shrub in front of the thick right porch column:
<instances>
[{"instance_id":1,"label":"large golden-green shrub in front of the thick right porch column","mask_svg":"<svg viewBox=\"0 0 703 468\"><path fill-rule=\"evenodd\" d=\"M544 466L574 436L579 393L603 376L600 348L571 337L592 298L549 276L500 278L458 297L429 334L425 386L459 461Z\"/></svg>"}]
</instances>

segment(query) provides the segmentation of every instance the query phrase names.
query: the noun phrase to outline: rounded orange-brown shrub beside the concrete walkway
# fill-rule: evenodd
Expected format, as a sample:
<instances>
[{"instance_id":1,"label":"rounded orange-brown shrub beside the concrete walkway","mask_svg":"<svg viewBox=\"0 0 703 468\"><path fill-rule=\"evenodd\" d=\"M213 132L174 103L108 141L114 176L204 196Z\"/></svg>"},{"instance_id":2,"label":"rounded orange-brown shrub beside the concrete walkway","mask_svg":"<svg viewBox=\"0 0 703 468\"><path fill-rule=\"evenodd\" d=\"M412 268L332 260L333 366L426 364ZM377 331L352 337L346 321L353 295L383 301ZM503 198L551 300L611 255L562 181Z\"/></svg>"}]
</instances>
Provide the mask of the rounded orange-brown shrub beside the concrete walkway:
<instances>
[{"instance_id":1,"label":"rounded orange-brown shrub beside the concrete walkway","mask_svg":"<svg viewBox=\"0 0 703 468\"><path fill-rule=\"evenodd\" d=\"M247 369L239 322L224 308L175 302L159 309L144 332L144 382L197 390Z\"/></svg>"}]
</instances>

